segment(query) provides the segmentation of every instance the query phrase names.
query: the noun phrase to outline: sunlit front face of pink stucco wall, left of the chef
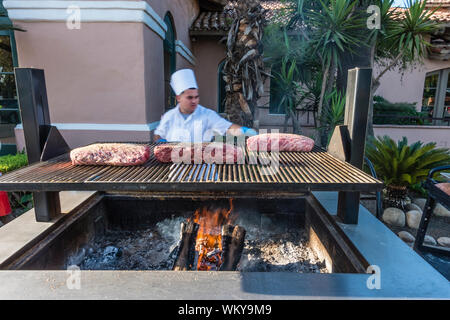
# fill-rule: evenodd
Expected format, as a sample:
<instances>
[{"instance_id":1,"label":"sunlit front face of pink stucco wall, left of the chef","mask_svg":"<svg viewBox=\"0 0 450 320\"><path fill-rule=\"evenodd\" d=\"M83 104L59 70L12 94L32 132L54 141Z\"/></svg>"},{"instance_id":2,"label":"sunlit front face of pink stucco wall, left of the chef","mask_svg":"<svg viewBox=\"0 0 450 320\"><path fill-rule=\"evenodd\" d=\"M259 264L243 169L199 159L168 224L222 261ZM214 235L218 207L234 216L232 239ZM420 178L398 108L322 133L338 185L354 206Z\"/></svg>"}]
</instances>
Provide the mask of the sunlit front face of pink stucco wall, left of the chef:
<instances>
[{"instance_id":1,"label":"sunlit front face of pink stucco wall, left of the chef","mask_svg":"<svg viewBox=\"0 0 450 320\"><path fill-rule=\"evenodd\" d=\"M143 24L20 25L19 66L44 69L52 122L145 123Z\"/></svg>"}]
</instances>

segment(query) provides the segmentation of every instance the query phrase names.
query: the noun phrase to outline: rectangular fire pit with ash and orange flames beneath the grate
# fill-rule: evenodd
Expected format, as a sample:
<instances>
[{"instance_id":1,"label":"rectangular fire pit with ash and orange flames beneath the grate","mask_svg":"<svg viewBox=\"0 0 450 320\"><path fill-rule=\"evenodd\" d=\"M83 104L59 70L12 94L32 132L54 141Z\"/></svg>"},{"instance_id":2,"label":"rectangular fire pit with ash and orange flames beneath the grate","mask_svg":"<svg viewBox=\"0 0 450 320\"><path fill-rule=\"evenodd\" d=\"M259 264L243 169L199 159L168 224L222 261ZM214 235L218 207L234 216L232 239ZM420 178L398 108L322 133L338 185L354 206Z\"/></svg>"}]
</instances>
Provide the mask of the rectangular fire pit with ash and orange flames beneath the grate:
<instances>
[{"instance_id":1,"label":"rectangular fire pit with ash and orange flames beneath the grate","mask_svg":"<svg viewBox=\"0 0 450 320\"><path fill-rule=\"evenodd\" d=\"M209 212L208 223L220 222L210 238L213 246L203 251L211 225L206 227L202 212ZM221 220L224 217L227 220ZM348 239L329 219L315 199L303 194L279 194L277 199L235 194L231 200L218 194L98 193L2 268L63 270L77 265L82 270L215 271L221 269L217 260L226 259L224 248L214 245L223 243L220 230L233 223L245 230L245 240L233 256L233 267L224 270L365 272L368 263L355 248L348 250ZM189 221L200 224L194 243L196 262L177 269L180 226Z\"/></svg>"}]
</instances>

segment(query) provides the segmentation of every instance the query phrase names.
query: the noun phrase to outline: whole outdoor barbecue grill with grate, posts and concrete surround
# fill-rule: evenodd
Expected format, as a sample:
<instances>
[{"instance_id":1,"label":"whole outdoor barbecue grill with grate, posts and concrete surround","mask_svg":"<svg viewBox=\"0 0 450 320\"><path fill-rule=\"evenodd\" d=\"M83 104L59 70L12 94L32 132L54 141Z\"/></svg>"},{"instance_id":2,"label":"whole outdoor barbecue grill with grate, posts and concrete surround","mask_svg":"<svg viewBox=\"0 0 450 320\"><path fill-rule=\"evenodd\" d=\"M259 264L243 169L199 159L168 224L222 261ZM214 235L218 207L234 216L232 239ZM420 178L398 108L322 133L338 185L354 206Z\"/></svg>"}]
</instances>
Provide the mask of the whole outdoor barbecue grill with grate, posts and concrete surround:
<instances>
[{"instance_id":1,"label":"whole outdoor barbecue grill with grate, posts and concrete surround","mask_svg":"<svg viewBox=\"0 0 450 320\"><path fill-rule=\"evenodd\" d=\"M26 242L1 257L0 269L5 270L1 273L5 278L2 283L6 288L6 295L0 292L3 296L11 298L19 294L22 299L23 290L18 293L17 288L23 287L29 296L39 298L54 295L79 298L77 294L93 299L448 296L445 279L423 259L412 255L412 251L405 250L404 243L372 214L362 208L358 221L360 192L379 191L383 187L381 181L361 170L370 69L349 72L345 122L335 130L328 151L314 147L311 152L276 155L255 154L244 148L242 164L168 164L152 157L143 165L131 167L72 165L70 148L50 122L43 70L16 68L15 72L29 166L0 177L0 190L33 192L36 222L32 225L39 230L28 236L26 225ZM156 144L148 145L153 149ZM264 161L271 159L276 160L277 167ZM61 214L59 192L67 190L99 192L78 201L72 201L80 197L78 193L63 193L63 204L67 207L70 203L71 209ZM337 202L335 194L315 191L337 191ZM66 198L69 195L73 198ZM278 243L268 232L273 229L281 230L283 241L289 238L287 235L295 234L296 241L304 237L307 247L297 248L315 252L324 261L327 272L286 272L286 268L301 265L298 260L282 262L285 268L282 272L242 273L168 271L174 269L135 268L126 264L125 269L83 269L98 271L82 274L82 290L49 287L49 277L66 276L61 270L73 263L79 265L73 261L80 261L84 250L92 248L96 241L107 241L108 246L117 243L122 248L121 241L129 241L128 235L133 235L136 243L146 245L134 247L139 254L128 251L133 258L156 252L168 259L177 250L161 250L158 246L161 241L157 239L166 241L168 237L150 238L136 230L154 230L163 221L180 228L179 221L188 221L194 210L208 205L223 208L224 202L230 203L230 211L233 203L233 212L241 219L235 228L253 226L247 228L249 235L256 229L270 243ZM51 223L40 224L44 221ZM358 225L347 228L348 224ZM17 229L21 227L16 224ZM7 241L17 242L16 234L20 233L17 229L2 230ZM109 236L105 237L109 231L118 232L112 242ZM179 231L176 233L179 235ZM286 241L280 242L278 248L284 247ZM109 247L102 251L105 254L106 249ZM386 250L389 254L384 254ZM275 257L271 252L268 254L267 263L274 263ZM290 256L291 251L287 254ZM245 257L243 254L242 260ZM240 253L233 258L239 261ZM154 259L146 258L144 262L153 264ZM368 286L375 276L366 274L372 272L371 265L382 270L381 290ZM66 279L59 282L64 284ZM130 290L123 290L124 287Z\"/></svg>"}]
</instances>

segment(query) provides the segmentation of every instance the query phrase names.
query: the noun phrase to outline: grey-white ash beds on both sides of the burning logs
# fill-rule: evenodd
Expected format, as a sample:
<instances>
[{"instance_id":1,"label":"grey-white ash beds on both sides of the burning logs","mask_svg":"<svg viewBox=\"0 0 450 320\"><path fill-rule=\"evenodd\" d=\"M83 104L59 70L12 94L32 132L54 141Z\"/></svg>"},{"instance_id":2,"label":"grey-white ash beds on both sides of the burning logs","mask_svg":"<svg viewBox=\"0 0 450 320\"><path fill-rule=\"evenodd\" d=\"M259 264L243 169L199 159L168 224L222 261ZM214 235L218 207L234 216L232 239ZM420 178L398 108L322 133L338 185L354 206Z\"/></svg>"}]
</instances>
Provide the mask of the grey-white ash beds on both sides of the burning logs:
<instances>
[{"instance_id":1,"label":"grey-white ash beds on both sides of the burning logs","mask_svg":"<svg viewBox=\"0 0 450 320\"><path fill-rule=\"evenodd\" d=\"M303 229L275 227L238 219L246 229L238 265L242 272L326 273L325 263L307 245ZM247 221L246 221L247 220ZM253 220L253 218L252 218ZM109 231L68 260L82 270L171 270L183 217L171 217L141 231ZM275 221L273 221L275 222Z\"/></svg>"}]
</instances>

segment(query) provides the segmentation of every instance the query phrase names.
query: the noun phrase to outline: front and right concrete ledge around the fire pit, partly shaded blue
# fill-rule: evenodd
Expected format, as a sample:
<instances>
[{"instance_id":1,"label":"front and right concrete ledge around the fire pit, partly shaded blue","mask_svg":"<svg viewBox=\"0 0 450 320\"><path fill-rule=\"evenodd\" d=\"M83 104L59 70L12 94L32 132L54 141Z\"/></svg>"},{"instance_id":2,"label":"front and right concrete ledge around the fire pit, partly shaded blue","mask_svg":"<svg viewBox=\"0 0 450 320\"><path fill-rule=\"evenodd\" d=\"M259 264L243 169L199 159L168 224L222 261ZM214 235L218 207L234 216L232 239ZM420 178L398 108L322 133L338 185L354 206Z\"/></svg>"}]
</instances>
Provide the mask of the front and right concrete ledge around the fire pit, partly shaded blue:
<instances>
[{"instance_id":1,"label":"front and right concrete ledge around the fire pit, partly shaded blue","mask_svg":"<svg viewBox=\"0 0 450 320\"><path fill-rule=\"evenodd\" d=\"M336 192L314 195L336 212ZM340 226L379 267L380 289L371 274L0 271L0 299L450 299L449 282L364 207Z\"/></svg>"}]
</instances>

